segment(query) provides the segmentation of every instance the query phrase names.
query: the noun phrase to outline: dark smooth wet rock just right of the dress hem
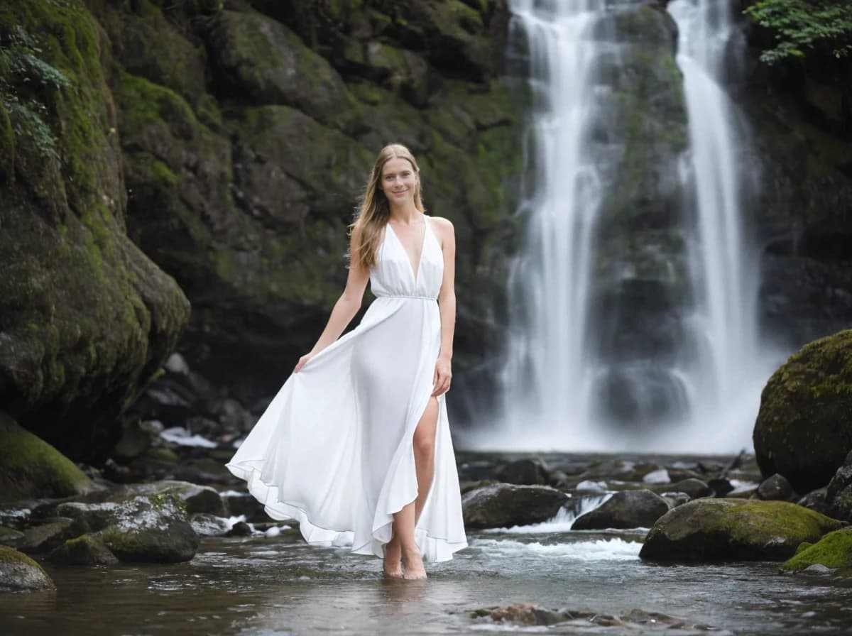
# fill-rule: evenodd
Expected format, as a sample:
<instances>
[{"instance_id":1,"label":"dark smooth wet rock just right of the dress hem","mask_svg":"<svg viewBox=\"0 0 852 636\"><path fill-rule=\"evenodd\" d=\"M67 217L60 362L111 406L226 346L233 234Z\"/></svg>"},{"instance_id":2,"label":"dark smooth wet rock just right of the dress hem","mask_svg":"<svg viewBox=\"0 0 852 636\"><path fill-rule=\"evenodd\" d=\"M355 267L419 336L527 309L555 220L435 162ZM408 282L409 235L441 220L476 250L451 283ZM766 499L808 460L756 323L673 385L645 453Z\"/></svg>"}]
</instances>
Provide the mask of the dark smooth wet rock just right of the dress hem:
<instances>
[{"instance_id":1,"label":"dark smooth wet rock just right of the dress hem","mask_svg":"<svg viewBox=\"0 0 852 636\"><path fill-rule=\"evenodd\" d=\"M566 500L550 486L485 486L462 497L464 525L472 529L538 524L556 515Z\"/></svg>"}]
</instances>

